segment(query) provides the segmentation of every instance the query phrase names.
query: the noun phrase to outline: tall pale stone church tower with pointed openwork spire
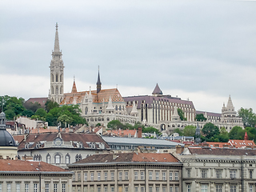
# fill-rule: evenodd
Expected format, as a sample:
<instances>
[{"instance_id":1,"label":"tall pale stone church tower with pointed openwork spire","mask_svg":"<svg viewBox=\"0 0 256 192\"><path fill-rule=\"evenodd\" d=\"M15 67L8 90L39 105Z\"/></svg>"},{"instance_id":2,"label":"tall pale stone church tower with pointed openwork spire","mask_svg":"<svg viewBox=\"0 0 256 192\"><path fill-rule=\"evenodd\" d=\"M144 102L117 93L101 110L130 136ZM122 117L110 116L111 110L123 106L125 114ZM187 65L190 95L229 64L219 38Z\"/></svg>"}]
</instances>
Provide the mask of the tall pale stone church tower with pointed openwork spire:
<instances>
[{"instance_id":1,"label":"tall pale stone church tower with pointed openwork spire","mask_svg":"<svg viewBox=\"0 0 256 192\"><path fill-rule=\"evenodd\" d=\"M62 51L58 42L58 23L56 23L54 50L50 62L50 94L48 98L53 102L62 102L63 99L63 72Z\"/></svg>"}]
</instances>

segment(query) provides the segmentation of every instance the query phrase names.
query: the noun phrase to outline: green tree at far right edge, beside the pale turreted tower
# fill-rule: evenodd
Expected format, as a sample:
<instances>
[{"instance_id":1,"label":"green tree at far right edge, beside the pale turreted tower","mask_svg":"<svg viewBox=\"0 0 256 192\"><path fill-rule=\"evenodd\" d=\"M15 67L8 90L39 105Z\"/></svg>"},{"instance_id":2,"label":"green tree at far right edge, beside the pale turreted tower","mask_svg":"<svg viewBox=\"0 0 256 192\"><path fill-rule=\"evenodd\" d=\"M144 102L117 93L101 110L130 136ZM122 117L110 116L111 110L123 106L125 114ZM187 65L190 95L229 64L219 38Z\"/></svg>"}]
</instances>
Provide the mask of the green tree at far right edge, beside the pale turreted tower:
<instances>
[{"instance_id":1,"label":"green tree at far right edge, beside the pale turreted tower","mask_svg":"<svg viewBox=\"0 0 256 192\"><path fill-rule=\"evenodd\" d=\"M241 107L240 110L238 110L239 116L242 118L242 122L244 126L251 126L255 127L256 125L256 115L253 112L253 109L243 109Z\"/></svg>"}]
</instances>

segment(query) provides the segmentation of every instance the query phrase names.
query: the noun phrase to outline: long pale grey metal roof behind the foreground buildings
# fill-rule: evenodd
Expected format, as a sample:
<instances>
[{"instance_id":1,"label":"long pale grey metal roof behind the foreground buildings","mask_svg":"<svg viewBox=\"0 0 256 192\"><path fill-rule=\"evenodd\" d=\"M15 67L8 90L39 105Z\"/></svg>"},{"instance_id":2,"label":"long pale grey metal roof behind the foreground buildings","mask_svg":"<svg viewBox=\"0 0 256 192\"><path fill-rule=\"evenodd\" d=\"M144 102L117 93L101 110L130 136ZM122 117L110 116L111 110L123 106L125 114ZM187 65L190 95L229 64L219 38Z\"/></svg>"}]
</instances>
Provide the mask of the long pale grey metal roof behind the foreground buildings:
<instances>
[{"instance_id":1,"label":"long pale grey metal roof behind the foreground buildings","mask_svg":"<svg viewBox=\"0 0 256 192\"><path fill-rule=\"evenodd\" d=\"M118 137L102 137L108 145L133 145L133 146L161 146L161 147L175 147L184 146L178 142L170 142L162 139L154 138L118 138Z\"/></svg>"}]
</instances>

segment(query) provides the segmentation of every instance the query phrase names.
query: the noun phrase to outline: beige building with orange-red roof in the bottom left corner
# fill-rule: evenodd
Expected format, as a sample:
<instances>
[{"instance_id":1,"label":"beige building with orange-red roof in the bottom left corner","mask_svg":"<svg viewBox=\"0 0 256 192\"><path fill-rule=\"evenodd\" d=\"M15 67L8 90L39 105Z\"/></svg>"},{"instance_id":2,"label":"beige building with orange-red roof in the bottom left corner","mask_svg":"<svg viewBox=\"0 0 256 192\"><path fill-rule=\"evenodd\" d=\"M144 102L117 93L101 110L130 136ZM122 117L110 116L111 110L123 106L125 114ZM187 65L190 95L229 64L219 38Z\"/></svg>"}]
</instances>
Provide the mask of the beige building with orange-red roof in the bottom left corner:
<instances>
[{"instance_id":1,"label":"beige building with orange-red roof in the bottom left corner","mask_svg":"<svg viewBox=\"0 0 256 192\"><path fill-rule=\"evenodd\" d=\"M46 162L0 159L2 192L71 192L72 175L72 172Z\"/></svg>"}]
</instances>

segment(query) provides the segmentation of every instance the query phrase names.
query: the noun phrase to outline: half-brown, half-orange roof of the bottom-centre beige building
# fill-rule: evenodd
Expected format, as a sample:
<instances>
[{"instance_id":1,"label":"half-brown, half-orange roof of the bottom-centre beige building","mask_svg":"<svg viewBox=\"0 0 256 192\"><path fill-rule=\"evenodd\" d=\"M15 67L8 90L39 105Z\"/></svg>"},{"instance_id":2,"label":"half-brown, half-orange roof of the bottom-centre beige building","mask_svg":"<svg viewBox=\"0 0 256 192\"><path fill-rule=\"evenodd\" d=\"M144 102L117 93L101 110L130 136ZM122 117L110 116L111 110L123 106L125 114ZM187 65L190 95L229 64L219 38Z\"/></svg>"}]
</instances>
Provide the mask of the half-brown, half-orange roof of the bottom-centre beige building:
<instances>
[{"instance_id":1,"label":"half-brown, half-orange roof of the bottom-centre beige building","mask_svg":"<svg viewBox=\"0 0 256 192\"><path fill-rule=\"evenodd\" d=\"M155 153L122 153L122 154L94 154L74 164L81 163L110 163L110 162L179 162L172 154Z\"/></svg>"}]
</instances>

